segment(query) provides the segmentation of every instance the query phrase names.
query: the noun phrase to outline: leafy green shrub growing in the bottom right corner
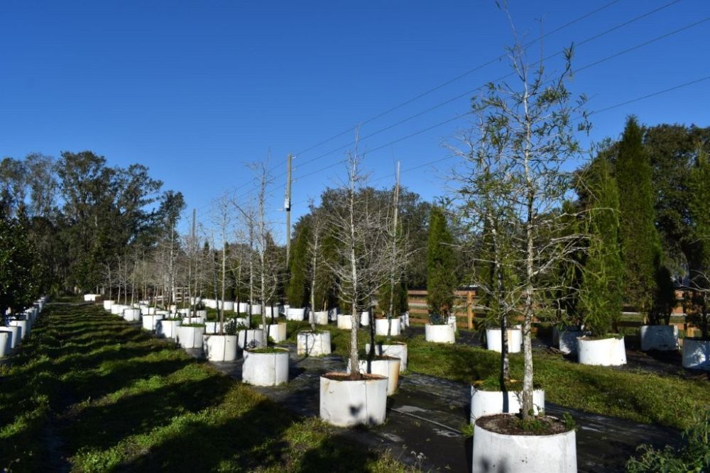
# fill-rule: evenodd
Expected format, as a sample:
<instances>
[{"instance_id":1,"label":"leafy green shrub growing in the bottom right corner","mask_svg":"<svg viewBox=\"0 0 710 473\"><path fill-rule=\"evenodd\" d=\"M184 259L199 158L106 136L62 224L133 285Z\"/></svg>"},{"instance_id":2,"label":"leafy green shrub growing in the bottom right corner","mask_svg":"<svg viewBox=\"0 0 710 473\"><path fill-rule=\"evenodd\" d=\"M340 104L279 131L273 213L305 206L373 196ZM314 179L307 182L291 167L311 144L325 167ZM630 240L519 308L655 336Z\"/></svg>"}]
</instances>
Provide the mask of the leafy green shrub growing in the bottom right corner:
<instances>
[{"instance_id":1,"label":"leafy green shrub growing in the bottom right corner","mask_svg":"<svg viewBox=\"0 0 710 473\"><path fill-rule=\"evenodd\" d=\"M679 448L666 445L655 450L650 445L640 445L638 454L626 463L629 473L645 472L706 472L710 469L710 411L695 419L683 433Z\"/></svg>"}]
</instances>

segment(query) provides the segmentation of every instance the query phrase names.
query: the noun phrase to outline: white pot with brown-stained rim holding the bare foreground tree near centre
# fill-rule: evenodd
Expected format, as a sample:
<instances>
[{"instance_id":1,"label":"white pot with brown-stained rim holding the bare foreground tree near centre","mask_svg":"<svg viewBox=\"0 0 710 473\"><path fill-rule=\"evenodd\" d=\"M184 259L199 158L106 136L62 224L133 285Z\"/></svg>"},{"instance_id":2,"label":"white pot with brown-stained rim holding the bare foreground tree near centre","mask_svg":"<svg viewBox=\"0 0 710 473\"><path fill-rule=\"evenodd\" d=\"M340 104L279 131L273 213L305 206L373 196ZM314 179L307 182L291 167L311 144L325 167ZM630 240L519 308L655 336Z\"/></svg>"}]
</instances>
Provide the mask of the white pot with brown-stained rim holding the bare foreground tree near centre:
<instances>
[{"instance_id":1,"label":"white pot with brown-stained rim holding the bare foreground tree near centre","mask_svg":"<svg viewBox=\"0 0 710 473\"><path fill-rule=\"evenodd\" d=\"M329 375L337 376L336 379ZM343 373L320 377L320 418L332 425L380 425L387 409L387 378L366 374L364 379L342 379Z\"/></svg>"}]
</instances>

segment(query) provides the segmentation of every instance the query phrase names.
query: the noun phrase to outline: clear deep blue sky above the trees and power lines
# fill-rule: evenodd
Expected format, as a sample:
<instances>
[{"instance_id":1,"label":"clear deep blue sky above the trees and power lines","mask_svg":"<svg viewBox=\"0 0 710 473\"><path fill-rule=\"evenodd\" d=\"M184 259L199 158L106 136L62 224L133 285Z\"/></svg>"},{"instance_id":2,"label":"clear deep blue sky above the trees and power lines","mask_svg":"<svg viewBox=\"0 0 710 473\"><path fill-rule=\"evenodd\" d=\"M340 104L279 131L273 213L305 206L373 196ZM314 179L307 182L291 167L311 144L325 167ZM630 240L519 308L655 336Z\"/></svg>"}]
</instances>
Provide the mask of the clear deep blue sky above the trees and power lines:
<instances>
[{"instance_id":1,"label":"clear deep blue sky above the trees and power lines","mask_svg":"<svg viewBox=\"0 0 710 473\"><path fill-rule=\"evenodd\" d=\"M552 32L545 38L546 54L660 9L580 45L575 68L710 17L707 0L509 4L516 27L530 39L540 34L542 18L542 32ZM709 32L705 21L586 68L571 87L589 96L594 111L706 77ZM493 0L5 0L0 155L92 150L110 165L140 162L165 188L182 191L189 208L198 208L207 221L216 196L239 188L241 197L251 189L244 164L263 160L271 150L271 166L278 167L272 216L283 222L277 209L283 204L286 154L365 122L361 150L374 150L366 155L373 184L391 185L400 160L403 184L431 199L443 193L441 177L454 160L425 163L447 157L442 141L464 121L387 143L467 111L469 91L507 74L506 62L369 119L498 57L511 40L506 16ZM618 136L629 113L648 124L709 126L709 105L706 80L592 116L591 139ZM342 160L352 137L344 133L294 160L294 217L305 211L309 197L342 175L342 166L316 171ZM302 164L308 160L313 161Z\"/></svg>"}]
</instances>

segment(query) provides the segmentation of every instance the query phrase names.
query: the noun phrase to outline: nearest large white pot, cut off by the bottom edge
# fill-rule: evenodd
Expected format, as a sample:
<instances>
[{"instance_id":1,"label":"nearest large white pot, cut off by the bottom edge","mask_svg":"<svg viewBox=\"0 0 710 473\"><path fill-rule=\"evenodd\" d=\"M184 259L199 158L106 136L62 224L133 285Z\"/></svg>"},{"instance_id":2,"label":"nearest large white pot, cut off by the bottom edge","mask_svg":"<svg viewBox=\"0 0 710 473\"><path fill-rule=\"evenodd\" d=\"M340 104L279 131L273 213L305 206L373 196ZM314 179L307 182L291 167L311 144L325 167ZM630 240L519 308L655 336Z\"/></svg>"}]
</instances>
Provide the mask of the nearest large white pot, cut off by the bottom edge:
<instances>
[{"instance_id":1,"label":"nearest large white pot, cut off by the bottom edge","mask_svg":"<svg viewBox=\"0 0 710 473\"><path fill-rule=\"evenodd\" d=\"M575 473L574 429L555 435L507 435L474 427L474 472Z\"/></svg>"}]
</instances>

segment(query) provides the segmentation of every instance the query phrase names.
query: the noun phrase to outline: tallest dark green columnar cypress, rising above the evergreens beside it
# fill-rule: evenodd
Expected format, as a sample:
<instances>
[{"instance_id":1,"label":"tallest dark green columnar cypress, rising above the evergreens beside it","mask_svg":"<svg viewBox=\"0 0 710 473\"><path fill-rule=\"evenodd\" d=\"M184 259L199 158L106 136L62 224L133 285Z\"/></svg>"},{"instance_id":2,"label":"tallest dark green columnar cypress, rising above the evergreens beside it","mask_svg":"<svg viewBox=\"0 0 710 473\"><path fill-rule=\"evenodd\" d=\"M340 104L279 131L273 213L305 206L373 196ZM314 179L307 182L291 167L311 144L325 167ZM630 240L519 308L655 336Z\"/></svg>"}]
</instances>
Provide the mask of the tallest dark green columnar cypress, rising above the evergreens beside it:
<instances>
[{"instance_id":1,"label":"tallest dark green columnar cypress, rising above the evergreens beside it","mask_svg":"<svg viewBox=\"0 0 710 473\"><path fill-rule=\"evenodd\" d=\"M636 118L630 116L618 145L616 182L621 210L624 294L628 304L648 313L657 291L661 246L654 225L652 170L642 138L643 130Z\"/></svg>"}]
</instances>

